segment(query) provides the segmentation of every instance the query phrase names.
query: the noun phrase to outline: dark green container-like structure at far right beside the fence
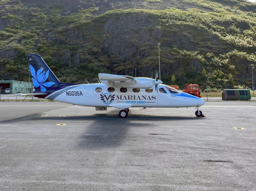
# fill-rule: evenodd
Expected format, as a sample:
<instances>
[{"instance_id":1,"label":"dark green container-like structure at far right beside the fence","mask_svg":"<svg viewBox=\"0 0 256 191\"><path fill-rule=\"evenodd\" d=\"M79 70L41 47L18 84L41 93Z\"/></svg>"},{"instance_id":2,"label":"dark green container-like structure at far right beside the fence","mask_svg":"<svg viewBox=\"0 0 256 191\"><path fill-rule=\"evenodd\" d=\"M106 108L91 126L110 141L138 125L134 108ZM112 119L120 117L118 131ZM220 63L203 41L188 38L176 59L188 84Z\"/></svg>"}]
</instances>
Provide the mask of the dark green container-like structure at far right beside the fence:
<instances>
[{"instance_id":1,"label":"dark green container-like structure at far right beside the fence","mask_svg":"<svg viewBox=\"0 0 256 191\"><path fill-rule=\"evenodd\" d=\"M227 89L222 91L222 100L250 100L251 94L248 89Z\"/></svg>"}]
</instances>

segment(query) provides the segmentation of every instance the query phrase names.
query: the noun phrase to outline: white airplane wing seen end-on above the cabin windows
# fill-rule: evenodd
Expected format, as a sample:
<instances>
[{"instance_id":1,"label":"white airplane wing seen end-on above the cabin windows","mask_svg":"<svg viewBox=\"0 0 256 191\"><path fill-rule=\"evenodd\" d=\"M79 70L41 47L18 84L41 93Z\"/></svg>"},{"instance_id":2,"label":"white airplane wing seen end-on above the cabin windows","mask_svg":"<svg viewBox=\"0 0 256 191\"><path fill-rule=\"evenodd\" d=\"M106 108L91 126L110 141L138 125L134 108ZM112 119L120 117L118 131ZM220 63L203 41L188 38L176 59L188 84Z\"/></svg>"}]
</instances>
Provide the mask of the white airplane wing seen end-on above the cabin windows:
<instances>
[{"instance_id":1,"label":"white airplane wing seen end-on above the cabin windows","mask_svg":"<svg viewBox=\"0 0 256 191\"><path fill-rule=\"evenodd\" d=\"M131 76L104 73L99 73L99 80L104 84L112 86L133 85L137 83L134 77Z\"/></svg>"}]
</instances>

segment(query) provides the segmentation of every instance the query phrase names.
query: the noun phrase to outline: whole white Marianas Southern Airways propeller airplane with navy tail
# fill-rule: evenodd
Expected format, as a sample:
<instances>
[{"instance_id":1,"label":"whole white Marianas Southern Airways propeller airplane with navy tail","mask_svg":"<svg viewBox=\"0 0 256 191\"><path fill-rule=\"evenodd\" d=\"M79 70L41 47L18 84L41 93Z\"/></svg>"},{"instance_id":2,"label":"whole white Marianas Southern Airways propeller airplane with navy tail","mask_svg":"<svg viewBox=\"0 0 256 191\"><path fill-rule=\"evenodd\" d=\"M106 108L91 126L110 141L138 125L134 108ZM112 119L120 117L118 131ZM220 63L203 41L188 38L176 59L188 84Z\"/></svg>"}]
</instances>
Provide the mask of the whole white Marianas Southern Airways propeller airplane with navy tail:
<instances>
[{"instance_id":1,"label":"whole white Marianas Southern Airways propeller airplane with navy tail","mask_svg":"<svg viewBox=\"0 0 256 191\"><path fill-rule=\"evenodd\" d=\"M163 85L158 80L158 74L156 79L151 79L99 73L100 83L62 83L40 55L29 54L27 57L35 91L12 96L34 95L80 106L93 106L96 110L118 108L120 118L126 118L131 107L196 107L196 116L203 116L199 107L204 105L204 100Z\"/></svg>"}]
</instances>

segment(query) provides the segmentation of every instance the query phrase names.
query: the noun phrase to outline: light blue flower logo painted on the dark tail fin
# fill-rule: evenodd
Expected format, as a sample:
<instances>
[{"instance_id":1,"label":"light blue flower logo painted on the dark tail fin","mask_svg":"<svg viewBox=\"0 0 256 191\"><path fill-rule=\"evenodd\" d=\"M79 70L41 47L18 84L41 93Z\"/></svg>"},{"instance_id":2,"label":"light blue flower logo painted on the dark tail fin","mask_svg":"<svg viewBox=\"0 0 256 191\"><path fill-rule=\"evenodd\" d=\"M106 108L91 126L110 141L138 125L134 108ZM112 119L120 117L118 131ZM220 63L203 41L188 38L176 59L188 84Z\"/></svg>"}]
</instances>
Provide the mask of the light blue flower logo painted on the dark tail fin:
<instances>
[{"instance_id":1,"label":"light blue flower logo painted on the dark tail fin","mask_svg":"<svg viewBox=\"0 0 256 191\"><path fill-rule=\"evenodd\" d=\"M38 69L36 72L35 69L32 67L32 65L29 65L30 68L30 73L32 75L32 81L34 87L40 87L40 90L42 92L46 91L46 88L51 87L54 85L54 82L45 82L48 78L49 75L49 70L48 71L43 71L43 69Z\"/></svg>"}]
</instances>

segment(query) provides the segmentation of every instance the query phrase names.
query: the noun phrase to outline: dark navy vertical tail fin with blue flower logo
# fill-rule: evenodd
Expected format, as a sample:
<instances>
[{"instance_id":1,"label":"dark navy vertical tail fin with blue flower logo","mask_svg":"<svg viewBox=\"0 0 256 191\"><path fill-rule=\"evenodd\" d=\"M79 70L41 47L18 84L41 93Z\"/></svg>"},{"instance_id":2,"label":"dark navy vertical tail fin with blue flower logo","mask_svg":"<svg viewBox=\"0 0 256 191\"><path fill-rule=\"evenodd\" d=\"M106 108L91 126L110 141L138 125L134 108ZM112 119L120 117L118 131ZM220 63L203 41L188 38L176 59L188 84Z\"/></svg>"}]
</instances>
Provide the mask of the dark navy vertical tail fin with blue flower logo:
<instances>
[{"instance_id":1,"label":"dark navy vertical tail fin with blue flower logo","mask_svg":"<svg viewBox=\"0 0 256 191\"><path fill-rule=\"evenodd\" d=\"M45 92L50 87L58 87L60 81L38 54L28 54L28 63L34 89Z\"/></svg>"}]
</instances>

